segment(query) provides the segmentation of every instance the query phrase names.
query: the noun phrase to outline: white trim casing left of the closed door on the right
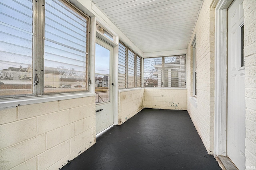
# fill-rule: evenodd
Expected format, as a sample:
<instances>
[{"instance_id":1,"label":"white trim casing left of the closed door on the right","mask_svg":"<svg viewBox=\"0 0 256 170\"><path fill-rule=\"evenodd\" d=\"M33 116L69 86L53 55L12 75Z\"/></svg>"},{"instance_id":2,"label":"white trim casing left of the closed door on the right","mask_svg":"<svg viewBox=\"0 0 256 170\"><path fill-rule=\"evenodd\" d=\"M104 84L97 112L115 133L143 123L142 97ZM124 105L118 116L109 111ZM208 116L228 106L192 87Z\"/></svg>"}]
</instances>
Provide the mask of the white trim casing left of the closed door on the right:
<instances>
[{"instance_id":1,"label":"white trim casing left of the closed door on the right","mask_svg":"<svg viewBox=\"0 0 256 170\"><path fill-rule=\"evenodd\" d=\"M227 155L227 8L233 0L220 0L215 15L215 155Z\"/></svg>"}]
</instances>

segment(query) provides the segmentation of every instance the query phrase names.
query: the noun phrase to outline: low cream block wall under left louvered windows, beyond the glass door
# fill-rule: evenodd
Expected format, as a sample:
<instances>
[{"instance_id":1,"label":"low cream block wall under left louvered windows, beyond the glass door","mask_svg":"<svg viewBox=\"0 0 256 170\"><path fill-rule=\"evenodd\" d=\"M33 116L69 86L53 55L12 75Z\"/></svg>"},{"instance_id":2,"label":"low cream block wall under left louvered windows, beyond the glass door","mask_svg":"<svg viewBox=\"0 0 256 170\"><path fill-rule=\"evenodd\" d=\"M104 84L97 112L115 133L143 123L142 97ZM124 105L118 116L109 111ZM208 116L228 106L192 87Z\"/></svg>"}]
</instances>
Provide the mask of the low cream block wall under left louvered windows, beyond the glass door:
<instances>
[{"instance_id":1,"label":"low cream block wall under left louvered windows, beyond the glass door","mask_svg":"<svg viewBox=\"0 0 256 170\"><path fill-rule=\"evenodd\" d=\"M121 125L144 108L144 89L118 91L118 125Z\"/></svg>"}]
</instances>

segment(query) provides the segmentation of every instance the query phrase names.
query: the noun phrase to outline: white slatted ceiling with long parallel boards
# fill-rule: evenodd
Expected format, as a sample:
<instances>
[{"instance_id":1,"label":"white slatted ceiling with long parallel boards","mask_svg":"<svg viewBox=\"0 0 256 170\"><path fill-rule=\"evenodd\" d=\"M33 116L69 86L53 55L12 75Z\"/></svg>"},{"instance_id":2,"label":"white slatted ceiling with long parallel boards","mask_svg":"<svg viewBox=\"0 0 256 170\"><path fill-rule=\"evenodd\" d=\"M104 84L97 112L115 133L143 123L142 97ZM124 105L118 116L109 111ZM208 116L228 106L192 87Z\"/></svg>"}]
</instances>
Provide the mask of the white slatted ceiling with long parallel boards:
<instances>
[{"instance_id":1,"label":"white slatted ceiling with long parallel boards","mask_svg":"<svg viewBox=\"0 0 256 170\"><path fill-rule=\"evenodd\" d=\"M203 0L92 0L144 53L186 49Z\"/></svg>"}]
</instances>

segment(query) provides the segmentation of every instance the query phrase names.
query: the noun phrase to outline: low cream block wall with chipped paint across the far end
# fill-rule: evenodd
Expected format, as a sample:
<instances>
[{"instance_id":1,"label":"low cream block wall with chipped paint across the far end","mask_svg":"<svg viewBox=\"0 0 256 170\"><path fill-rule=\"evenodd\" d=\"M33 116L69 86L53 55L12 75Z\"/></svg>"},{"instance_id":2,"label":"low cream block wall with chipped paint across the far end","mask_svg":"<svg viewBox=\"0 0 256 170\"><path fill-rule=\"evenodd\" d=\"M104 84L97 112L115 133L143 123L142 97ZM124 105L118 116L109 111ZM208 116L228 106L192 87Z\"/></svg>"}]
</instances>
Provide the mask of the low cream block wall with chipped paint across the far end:
<instances>
[{"instance_id":1,"label":"low cream block wall with chipped paint across the far end","mask_svg":"<svg viewBox=\"0 0 256 170\"><path fill-rule=\"evenodd\" d=\"M152 109L187 109L187 89L144 88L144 107Z\"/></svg>"}]
</instances>

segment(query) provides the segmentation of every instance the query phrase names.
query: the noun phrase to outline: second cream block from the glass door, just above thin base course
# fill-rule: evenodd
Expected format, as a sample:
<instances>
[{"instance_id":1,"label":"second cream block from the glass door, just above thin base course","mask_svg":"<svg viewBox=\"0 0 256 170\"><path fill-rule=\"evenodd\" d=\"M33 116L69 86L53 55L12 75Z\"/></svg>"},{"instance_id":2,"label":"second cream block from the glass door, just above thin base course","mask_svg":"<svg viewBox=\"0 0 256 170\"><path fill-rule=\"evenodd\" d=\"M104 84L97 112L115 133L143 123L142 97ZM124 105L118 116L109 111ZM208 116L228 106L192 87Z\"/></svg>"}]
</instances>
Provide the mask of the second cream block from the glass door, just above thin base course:
<instances>
[{"instance_id":1,"label":"second cream block from the glass door, just above thin base course","mask_svg":"<svg viewBox=\"0 0 256 170\"><path fill-rule=\"evenodd\" d=\"M38 155L38 170L45 170L67 156L70 153L69 146L70 141L68 140Z\"/></svg>"}]
</instances>

